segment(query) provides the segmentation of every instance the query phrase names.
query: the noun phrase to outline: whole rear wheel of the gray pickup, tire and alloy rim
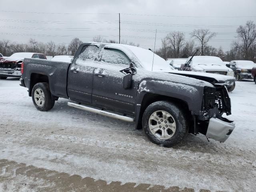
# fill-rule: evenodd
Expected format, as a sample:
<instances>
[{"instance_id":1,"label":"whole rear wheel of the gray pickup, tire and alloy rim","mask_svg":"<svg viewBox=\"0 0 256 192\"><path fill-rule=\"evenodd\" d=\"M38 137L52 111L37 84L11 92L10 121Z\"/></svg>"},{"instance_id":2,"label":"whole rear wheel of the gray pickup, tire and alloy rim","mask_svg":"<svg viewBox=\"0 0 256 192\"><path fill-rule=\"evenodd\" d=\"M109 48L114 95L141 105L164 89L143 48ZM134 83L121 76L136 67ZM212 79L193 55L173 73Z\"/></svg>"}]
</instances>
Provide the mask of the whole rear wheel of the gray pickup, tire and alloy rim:
<instances>
[{"instance_id":1,"label":"whole rear wheel of the gray pickup, tire and alloy rim","mask_svg":"<svg viewBox=\"0 0 256 192\"><path fill-rule=\"evenodd\" d=\"M40 111L48 111L53 108L55 100L52 100L48 83L37 83L32 89L34 106Z\"/></svg>"}]
</instances>

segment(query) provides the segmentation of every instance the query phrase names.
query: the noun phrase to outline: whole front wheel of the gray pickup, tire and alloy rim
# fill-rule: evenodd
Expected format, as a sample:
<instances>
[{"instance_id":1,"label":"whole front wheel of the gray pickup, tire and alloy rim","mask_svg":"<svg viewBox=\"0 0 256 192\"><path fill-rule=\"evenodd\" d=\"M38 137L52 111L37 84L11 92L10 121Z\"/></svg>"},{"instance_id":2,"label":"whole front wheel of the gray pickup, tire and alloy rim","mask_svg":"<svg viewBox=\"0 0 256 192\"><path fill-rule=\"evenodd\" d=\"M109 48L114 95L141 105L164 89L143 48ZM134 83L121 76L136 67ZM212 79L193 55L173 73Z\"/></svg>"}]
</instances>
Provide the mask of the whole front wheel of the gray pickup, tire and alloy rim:
<instances>
[{"instance_id":1,"label":"whole front wheel of the gray pickup, tire and alloy rim","mask_svg":"<svg viewBox=\"0 0 256 192\"><path fill-rule=\"evenodd\" d=\"M142 117L143 130L155 144L172 147L188 134L185 113L174 103L157 101L150 104Z\"/></svg>"}]
</instances>

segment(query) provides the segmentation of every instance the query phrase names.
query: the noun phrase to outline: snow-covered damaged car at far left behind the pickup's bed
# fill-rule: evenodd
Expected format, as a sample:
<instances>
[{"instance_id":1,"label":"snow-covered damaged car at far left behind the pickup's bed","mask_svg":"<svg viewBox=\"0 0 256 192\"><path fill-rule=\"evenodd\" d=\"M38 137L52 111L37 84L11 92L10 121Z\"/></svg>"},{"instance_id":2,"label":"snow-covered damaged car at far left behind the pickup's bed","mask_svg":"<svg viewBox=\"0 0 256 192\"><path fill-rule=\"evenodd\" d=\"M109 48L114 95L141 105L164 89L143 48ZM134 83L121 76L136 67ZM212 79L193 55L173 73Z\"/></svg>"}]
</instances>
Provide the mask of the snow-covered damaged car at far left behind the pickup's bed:
<instances>
[{"instance_id":1,"label":"snow-covered damaged car at far left behind the pickup's bed","mask_svg":"<svg viewBox=\"0 0 256 192\"><path fill-rule=\"evenodd\" d=\"M7 77L21 77L21 63L24 58L46 59L44 54L20 52L0 60L0 79Z\"/></svg>"}]
</instances>

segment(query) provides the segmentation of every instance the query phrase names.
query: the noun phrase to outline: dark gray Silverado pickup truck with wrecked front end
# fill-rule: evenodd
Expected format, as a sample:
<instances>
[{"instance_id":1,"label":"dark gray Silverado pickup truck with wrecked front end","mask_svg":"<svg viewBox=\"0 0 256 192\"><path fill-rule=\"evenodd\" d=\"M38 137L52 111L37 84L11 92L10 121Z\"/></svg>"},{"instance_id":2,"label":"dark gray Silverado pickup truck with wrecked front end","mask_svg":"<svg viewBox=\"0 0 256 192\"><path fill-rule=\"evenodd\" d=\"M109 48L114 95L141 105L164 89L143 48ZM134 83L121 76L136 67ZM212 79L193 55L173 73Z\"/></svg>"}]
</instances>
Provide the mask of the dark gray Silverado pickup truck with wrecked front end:
<instances>
[{"instance_id":1,"label":"dark gray Silverado pickup truck with wrecked front end","mask_svg":"<svg viewBox=\"0 0 256 192\"><path fill-rule=\"evenodd\" d=\"M154 59L153 59L154 57ZM172 70L150 50L122 44L82 44L71 63L25 58L20 85L35 107L50 110L58 98L68 106L135 122L161 146L188 133L224 142L234 122L226 84L230 76Z\"/></svg>"}]
</instances>

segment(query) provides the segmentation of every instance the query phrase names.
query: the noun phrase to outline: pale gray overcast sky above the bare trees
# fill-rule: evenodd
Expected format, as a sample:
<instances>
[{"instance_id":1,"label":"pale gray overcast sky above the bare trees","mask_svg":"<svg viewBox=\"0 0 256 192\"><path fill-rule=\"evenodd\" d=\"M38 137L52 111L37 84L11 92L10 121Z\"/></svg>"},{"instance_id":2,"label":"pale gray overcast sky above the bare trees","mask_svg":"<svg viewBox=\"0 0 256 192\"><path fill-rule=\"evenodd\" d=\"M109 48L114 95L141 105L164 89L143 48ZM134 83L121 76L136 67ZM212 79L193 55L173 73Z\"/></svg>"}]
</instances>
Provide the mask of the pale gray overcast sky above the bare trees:
<instances>
[{"instance_id":1,"label":"pale gray overcast sky above the bare trees","mask_svg":"<svg viewBox=\"0 0 256 192\"><path fill-rule=\"evenodd\" d=\"M69 43L101 35L118 40L118 13L121 13L121 40L143 48L161 46L167 32L190 32L209 28L219 33L210 45L224 51L236 39L236 28L247 20L256 22L256 0L0 0L0 40L27 42L35 38Z\"/></svg>"}]
</instances>

